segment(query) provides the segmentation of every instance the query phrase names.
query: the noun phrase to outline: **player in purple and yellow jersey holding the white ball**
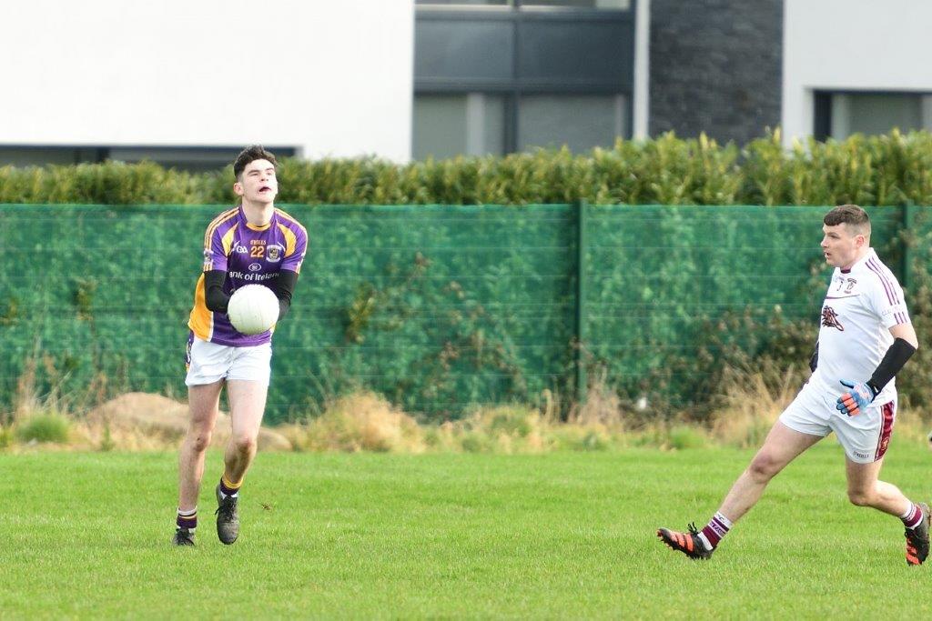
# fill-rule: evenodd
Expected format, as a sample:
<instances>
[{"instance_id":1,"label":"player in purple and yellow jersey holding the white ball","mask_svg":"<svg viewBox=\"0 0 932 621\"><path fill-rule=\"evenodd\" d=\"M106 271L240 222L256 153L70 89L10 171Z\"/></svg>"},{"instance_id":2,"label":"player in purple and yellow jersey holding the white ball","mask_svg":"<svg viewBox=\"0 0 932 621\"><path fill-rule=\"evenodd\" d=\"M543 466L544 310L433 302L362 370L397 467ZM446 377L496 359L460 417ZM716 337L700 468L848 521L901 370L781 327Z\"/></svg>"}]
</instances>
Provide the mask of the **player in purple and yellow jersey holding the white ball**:
<instances>
[{"instance_id":1,"label":"player in purple and yellow jersey holding the white ball","mask_svg":"<svg viewBox=\"0 0 932 621\"><path fill-rule=\"evenodd\" d=\"M203 270L188 319L188 402L191 421L178 460L178 514L173 543L193 546L204 455L211 442L226 385L232 433L224 472L216 487L217 536L232 544L240 533L240 485L256 451L266 408L274 327L261 334L237 331L226 316L233 291L264 285L279 299L279 320L291 307L292 293L308 248L308 233L275 207L278 164L258 145L244 149L233 164L233 191L240 205L213 219L204 235Z\"/></svg>"}]
</instances>

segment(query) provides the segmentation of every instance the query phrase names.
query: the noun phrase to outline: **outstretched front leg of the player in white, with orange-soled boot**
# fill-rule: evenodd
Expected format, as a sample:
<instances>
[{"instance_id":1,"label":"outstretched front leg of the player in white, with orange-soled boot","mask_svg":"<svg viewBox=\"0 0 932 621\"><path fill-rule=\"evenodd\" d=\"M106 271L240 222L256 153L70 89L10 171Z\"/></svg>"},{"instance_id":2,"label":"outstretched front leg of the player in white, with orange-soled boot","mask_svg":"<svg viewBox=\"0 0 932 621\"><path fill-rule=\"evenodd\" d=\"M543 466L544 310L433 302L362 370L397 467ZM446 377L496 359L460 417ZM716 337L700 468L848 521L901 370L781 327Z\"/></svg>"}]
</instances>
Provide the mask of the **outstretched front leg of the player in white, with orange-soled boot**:
<instances>
[{"instance_id":1,"label":"outstretched front leg of the player in white, with orange-soled boot","mask_svg":"<svg viewBox=\"0 0 932 621\"><path fill-rule=\"evenodd\" d=\"M794 431L777 421L747 469L734 481L719 511L702 531L691 524L688 533L661 528L657 536L667 546L683 552L691 559L708 559L734 522L744 517L761 499L771 479L820 439L821 436Z\"/></svg>"}]
</instances>

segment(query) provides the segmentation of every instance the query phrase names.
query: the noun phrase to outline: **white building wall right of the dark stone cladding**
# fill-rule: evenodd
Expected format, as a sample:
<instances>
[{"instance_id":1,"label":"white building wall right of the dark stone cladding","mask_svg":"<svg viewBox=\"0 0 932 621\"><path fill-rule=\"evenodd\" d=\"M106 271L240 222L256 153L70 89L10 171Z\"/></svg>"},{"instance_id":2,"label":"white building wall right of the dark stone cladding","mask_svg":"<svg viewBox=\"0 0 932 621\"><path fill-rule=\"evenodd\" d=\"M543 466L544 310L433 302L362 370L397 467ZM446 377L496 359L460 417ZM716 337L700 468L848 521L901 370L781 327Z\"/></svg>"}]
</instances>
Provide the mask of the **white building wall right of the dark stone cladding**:
<instances>
[{"instance_id":1,"label":"white building wall right of the dark stone cladding","mask_svg":"<svg viewBox=\"0 0 932 621\"><path fill-rule=\"evenodd\" d=\"M785 0L784 142L813 131L814 90L932 91L932 2Z\"/></svg>"}]
</instances>

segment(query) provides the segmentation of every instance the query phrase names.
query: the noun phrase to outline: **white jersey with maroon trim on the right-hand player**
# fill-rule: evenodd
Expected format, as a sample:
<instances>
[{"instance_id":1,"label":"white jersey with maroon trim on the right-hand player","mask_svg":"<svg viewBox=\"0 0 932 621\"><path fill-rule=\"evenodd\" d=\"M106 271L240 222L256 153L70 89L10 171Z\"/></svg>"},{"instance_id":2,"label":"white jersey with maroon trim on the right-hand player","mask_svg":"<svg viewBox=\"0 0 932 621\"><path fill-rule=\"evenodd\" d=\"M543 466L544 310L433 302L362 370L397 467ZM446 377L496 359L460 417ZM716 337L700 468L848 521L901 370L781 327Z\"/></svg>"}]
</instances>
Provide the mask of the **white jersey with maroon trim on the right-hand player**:
<instances>
[{"instance_id":1,"label":"white jersey with maroon trim on the right-hand player","mask_svg":"<svg viewBox=\"0 0 932 621\"><path fill-rule=\"evenodd\" d=\"M893 344L890 328L909 322L897 277L873 249L849 270L836 267L822 304L818 366L810 381L832 395L847 390L841 380L867 382ZM890 380L874 402L896 394L896 380Z\"/></svg>"}]
</instances>

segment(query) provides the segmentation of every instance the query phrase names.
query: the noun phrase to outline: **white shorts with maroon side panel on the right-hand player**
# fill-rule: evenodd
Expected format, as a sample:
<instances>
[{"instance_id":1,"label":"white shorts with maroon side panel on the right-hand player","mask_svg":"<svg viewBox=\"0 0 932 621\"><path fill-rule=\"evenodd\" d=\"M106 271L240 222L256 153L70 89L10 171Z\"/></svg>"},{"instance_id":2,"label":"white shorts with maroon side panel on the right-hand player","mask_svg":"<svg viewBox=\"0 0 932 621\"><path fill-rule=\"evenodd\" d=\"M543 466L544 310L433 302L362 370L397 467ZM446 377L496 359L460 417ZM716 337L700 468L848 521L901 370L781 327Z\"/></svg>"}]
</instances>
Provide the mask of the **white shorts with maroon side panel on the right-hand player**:
<instances>
[{"instance_id":1,"label":"white shorts with maroon side panel on the right-hand player","mask_svg":"<svg viewBox=\"0 0 932 621\"><path fill-rule=\"evenodd\" d=\"M840 395L802 386L800 394L780 414L780 422L794 431L824 438L832 431L848 459L870 464L884 456L897 419L897 399L874 401L863 412L848 416L835 409Z\"/></svg>"}]
</instances>

